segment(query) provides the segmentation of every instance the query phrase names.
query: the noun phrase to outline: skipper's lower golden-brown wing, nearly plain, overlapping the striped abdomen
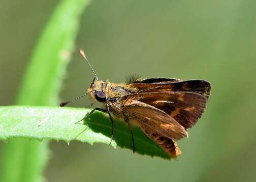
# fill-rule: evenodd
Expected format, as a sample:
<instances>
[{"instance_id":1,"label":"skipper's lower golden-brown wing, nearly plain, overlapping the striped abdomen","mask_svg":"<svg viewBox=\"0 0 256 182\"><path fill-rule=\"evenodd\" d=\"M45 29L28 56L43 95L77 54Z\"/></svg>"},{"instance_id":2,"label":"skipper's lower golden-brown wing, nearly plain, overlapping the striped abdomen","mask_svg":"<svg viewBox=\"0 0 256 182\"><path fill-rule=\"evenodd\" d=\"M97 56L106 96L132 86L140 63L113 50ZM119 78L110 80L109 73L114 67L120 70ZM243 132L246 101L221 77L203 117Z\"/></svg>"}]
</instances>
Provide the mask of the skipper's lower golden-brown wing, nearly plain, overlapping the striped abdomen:
<instances>
[{"instance_id":1,"label":"skipper's lower golden-brown wing, nearly plain, overlapping the striped abdomen","mask_svg":"<svg viewBox=\"0 0 256 182\"><path fill-rule=\"evenodd\" d=\"M143 102L127 99L123 104L123 114L134 120L141 127L154 129L168 138L179 140L187 136L182 125L162 110L152 107Z\"/></svg>"}]
</instances>

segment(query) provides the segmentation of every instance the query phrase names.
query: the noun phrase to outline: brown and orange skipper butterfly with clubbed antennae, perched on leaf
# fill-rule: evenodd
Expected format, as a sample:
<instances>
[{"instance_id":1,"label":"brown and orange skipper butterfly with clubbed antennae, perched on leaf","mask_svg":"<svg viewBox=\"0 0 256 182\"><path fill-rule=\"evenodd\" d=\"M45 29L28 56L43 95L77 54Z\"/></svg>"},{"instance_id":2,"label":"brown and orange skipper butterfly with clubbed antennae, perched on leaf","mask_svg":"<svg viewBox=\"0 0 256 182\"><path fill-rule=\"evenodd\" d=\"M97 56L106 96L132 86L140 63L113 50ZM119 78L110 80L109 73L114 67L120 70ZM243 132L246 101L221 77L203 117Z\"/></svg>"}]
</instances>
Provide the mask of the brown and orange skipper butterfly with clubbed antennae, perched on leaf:
<instances>
[{"instance_id":1,"label":"brown and orange skipper butterfly with clubbed antennae, perched on leaf","mask_svg":"<svg viewBox=\"0 0 256 182\"><path fill-rule=\"evenodd\" d=\"M146 78L132 76L126 83L111 83L100 80L88 62L84 52L80 54L89 64L94 79L87 93L60 106L65 106L85 95L104 104L95 110L106 112L112 122L112 114L123 118L132 134L133 152L135 144L132 124L142 131L171 157L181 154L176 141L187 137L187 128L192 127L202 116L211 92L211 85L205 80L182 81L175 78ZM110 142L111 143L111 142Z\"/></svg>"}]
</instances>

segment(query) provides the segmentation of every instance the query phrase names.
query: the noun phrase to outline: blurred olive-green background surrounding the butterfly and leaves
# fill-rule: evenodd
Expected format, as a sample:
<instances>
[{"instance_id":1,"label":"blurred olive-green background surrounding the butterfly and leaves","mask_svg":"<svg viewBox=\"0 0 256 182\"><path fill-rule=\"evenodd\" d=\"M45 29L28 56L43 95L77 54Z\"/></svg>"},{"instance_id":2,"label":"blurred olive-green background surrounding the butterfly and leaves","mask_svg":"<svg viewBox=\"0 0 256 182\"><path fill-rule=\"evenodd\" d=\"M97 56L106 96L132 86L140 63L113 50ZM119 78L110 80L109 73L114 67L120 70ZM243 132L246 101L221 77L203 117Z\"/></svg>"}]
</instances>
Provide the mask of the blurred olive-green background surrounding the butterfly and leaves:
<instances>
[{"instance_id":1,"label":"blurred olive-green background surrounding the butterfly and leaves","mask_svg":"<svg viewBox=\"0 0 256 182\"><path fill-rule=\"evenodd\" d=\"M13 105L26 64L59 1L0 1L0 104ZM255 181L256 2L91 1L76 50L101 79L205 79L204 116L163 160L103 144L52 142L47 181ZM93 75L73 54L62 100L85 92ZM39 96L40 97L40 96ZM74 107L91 102L81 99ZM0 143L0 148L3 143ZM1 150L0 150L1 151ZM1 152L0 152L1 154Z\"/></svg>"}]
</instances>

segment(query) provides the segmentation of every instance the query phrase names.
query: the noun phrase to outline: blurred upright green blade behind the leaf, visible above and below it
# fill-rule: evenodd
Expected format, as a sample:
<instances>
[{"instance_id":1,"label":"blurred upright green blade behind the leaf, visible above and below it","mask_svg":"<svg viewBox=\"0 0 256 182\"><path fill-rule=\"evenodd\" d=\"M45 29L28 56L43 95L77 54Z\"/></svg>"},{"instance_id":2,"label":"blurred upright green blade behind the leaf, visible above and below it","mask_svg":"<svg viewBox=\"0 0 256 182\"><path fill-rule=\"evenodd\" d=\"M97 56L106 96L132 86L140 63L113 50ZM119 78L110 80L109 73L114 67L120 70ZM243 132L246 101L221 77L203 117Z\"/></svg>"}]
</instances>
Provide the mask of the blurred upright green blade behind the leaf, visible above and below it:
<instances>
[{"instance_id":1,"label":"blurred upright green blade behind the leaf, visible above and below it","mask_svg":"<svg viewBox=\"0 0 256 182\"><path fill-rule=\"evenodd\" d=\"M56 106L88 0L63 0L43 31L25 72L17 105ZM3 149L0 181L42 181L48 141L12 139Z\"/></svg>"}]
</instances>

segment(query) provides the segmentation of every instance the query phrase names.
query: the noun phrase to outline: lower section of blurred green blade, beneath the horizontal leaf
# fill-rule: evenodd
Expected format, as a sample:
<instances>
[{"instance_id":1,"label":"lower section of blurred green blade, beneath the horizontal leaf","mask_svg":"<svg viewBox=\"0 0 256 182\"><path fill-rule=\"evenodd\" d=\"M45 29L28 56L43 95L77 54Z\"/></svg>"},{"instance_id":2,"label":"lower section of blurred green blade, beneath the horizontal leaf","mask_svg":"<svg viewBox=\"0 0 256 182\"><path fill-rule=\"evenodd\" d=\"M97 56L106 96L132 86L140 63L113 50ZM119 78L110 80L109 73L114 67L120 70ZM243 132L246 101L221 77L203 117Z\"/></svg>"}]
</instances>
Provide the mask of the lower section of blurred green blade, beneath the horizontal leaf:
<instances>
[{"instance_id":1,"label":"lower section of blurred green blade, beneath the horizontal leaf","mask_svg":"<svg viewBox=\"0 0 256 182\"><path fill-rule=\"evenodd\" d=\"M1 181L42 181L48 141L12 139L3 151Z\"/></svg>"}]
</instances>

